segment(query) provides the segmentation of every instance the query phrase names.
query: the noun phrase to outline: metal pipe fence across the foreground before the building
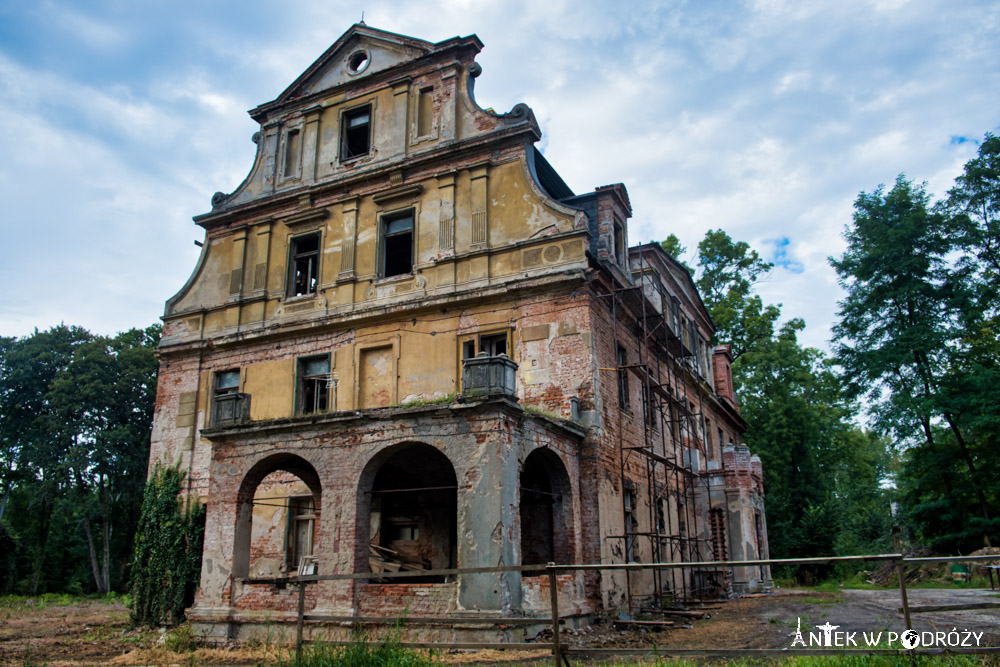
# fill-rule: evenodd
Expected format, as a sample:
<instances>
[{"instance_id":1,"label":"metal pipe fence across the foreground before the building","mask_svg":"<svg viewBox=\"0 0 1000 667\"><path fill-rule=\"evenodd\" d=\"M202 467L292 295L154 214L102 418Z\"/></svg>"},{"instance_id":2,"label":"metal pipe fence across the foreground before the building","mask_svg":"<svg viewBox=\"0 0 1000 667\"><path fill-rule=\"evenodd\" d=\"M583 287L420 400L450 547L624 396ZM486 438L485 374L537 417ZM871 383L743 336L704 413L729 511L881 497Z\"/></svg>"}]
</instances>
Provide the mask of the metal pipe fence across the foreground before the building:
<instances>
[{"instance_id":1,"label":"metal pipe fence across the foreground before the building","mask_svg":"<svg viewBox=\"0 0 1000 667\"><path fill-rule=\"evenodd\" d=\"M303 638L306 622L317 623L350 623L368 624L384 623L393 625L484 625L484 626L527 626L527 625L548 625L551 628L552 640L550 642L401 642L402 646L411 648L438 648L438 649L529 649L551 651L556 667L565 663L569 665L568 656L579 657L600 657L607 655L658 655L661 657L777 657L791 655L844 655L845 650L852 654L873 654L873 655L941 655L953 654L994 654L1000 655L1000 647L948 647L948 648L923 648L923 649L885 649L885 648L788 648L788 649L676 649L676 648L642 648L642 649L599 649L567 647L564 645L560 632L560 622L562 617L559 611L558 581L556 577L561 573L573 573L583 571L639 571L639 570L698 570L701 568L719 567L755 567L771 565L818 565L831 563L850 562L871 562L871 561L891 561L896 563L896 573L899 578L899 594L901 606L898 612L903 615L905 631L912 631L913 625L911 615L923 612L940 611L964 611L973 609L996 608L1000 610L998 603L974 603L965 605L937 605L929 607L911 607L907 595L906 566L908 564L921 563L974 563L981 561L1000 560L1000 556L942 556L932 558L907 558L902 554L869 554L861 556L827 556L814 558L771 558L762 560L741 560L741 561L702 561L702 562L682 562L682 563L590 563L579 565L511 565L497 567L477 567L477 568L450 568L442 570L421 570L412 572L352 572L346 574L325 574L325 575L303 575L284 578L247 578L243 581L248 584L284 584L298 585L298 612L296 619L295 633L295 654L301 658L302 647L306 643ZM468 616L414 616L414 617L380 617L380 616L323 616L307 614L305 612L306 587L310 584L321 581L345 581L345 580L386 580L386 579L408 579L426 578L438 576L461 576L469 574L495 574L505 572L541 572L544 571L548 577L550 614L539 617L468 617ZM992 583L992 582L991 582ZM666 612L669 614L669 611ZM331 644L341 644L349 642L328 642Z\"/></svg>"}]
</instances>

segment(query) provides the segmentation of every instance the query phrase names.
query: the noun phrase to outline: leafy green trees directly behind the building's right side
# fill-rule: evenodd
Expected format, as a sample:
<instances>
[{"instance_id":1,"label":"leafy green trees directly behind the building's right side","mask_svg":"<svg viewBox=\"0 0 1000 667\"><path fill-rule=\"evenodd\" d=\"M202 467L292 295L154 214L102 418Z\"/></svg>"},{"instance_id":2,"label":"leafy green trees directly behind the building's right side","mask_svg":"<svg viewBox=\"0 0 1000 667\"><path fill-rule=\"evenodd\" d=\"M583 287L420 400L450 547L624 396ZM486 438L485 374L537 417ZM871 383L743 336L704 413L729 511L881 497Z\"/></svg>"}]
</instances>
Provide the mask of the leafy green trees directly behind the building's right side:
<instances>
[{"instance_id":1,"label":"leafy green trees directly behind the building's right side","mask_svg":"<svg viewBox=\"0 0 1000 667\"><path fill-rule=\"evenodd\" d=\"M779 325L779 305L764 304L755 293L773 265L721 230L705 235L698 259L696 284L717 342L732 345L733 382L747 422L744 440L764 465L771 555L887 548L887 443L854 425L857 405L844 399L831 362L798 342L805 323ZM832 568L793 572L818 580Z\"/></svg>"}]
</instances>

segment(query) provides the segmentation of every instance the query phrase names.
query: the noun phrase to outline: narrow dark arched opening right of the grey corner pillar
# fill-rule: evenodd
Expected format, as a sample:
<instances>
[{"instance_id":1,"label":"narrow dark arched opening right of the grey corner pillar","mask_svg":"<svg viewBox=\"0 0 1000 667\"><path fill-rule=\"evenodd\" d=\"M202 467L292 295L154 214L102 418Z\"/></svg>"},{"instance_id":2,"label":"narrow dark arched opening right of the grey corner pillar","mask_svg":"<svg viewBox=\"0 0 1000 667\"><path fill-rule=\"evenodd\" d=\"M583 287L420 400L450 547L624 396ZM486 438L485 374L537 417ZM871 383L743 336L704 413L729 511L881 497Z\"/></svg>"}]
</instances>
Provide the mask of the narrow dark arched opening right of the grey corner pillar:
<instances>
[{"instance_id":1,"label":"narrow dark arched opening right of the grey corner pillar","mask_svg":"<svg viewBox=\"0 0 1000 667\"><path fill-rule=\"evenodd\" d=\"M536 449L521 468L521 564L573 561L569 475L559 456Z\"/></svg>"}]
</instances>

